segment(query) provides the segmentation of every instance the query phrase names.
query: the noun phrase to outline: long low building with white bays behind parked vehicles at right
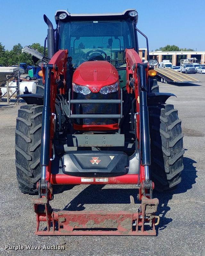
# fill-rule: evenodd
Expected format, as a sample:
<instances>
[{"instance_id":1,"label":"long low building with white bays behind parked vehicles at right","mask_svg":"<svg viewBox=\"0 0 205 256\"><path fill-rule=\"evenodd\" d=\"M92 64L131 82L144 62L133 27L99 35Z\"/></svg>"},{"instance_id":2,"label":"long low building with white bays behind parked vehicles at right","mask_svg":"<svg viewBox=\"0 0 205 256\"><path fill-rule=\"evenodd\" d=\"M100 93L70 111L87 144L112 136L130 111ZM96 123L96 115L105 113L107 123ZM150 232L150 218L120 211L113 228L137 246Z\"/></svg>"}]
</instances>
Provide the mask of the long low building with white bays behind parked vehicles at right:
<instances>
[{"instance_id":1,"label":"long low building with white bays behind parked vehicles at right","mask_svg":"<svg viewBox=\"0 0 205 256\"><path fill-rule=\"evenodd\" d=\"M156 51L150 52L150 59L157 59L159 62L163 60L169 60L173 66L180 66L180 60L186 58L197 58L200 64L205 64L205 51L176 51L176 52L164 52ZM147 60L147 49L139 48L139 55L143 61Z\"/></svg>"}]
</instances>

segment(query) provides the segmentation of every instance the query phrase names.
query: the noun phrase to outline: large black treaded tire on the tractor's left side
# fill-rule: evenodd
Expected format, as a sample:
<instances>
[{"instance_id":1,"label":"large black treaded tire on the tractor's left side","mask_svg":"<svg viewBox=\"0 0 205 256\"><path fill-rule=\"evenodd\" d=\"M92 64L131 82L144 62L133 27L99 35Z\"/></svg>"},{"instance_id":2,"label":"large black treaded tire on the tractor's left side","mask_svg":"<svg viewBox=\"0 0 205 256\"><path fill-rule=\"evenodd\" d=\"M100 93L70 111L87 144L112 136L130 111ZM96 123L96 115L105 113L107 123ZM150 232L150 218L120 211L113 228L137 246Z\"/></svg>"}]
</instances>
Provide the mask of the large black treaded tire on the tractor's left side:
<instances>
[{"instance_id":1,"label":"large black treaded tire on the tractor's left side","mask_svg":"<svg viewBox=\"0 0 205 256\"><path fill-rule=\"evenodd\" d=\"M16 119L16 173L20 191L36 194L41 178L40 149L43 106L23 105Z\"/></svg>"}]
</instances>

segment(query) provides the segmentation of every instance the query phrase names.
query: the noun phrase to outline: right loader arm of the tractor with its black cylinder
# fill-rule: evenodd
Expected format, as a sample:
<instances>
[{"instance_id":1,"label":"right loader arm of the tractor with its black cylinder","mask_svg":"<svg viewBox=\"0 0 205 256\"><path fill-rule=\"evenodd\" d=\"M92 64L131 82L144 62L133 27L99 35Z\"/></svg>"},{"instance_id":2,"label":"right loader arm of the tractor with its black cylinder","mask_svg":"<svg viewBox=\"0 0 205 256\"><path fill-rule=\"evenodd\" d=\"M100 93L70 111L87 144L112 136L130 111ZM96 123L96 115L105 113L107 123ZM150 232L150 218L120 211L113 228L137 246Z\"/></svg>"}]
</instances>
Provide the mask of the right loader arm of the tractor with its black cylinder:
<instances>
[{"instance_id":1,"label":"right loader arm of the tractor with its black cylinder","mask_svg":"<svg viewBox=\"0 0 205 256\"><path fill-rule=\"evenodd\" d=\"M152 198L154 183L149 178L150 155L150 132L149 113L147 106L147 89L149 64L143 63L134 49L126 49L127 62L127 93L134 93L136 99L135 126L136 138L139 148L139 199L143 196Z\"/></svg>"}]
</instances>

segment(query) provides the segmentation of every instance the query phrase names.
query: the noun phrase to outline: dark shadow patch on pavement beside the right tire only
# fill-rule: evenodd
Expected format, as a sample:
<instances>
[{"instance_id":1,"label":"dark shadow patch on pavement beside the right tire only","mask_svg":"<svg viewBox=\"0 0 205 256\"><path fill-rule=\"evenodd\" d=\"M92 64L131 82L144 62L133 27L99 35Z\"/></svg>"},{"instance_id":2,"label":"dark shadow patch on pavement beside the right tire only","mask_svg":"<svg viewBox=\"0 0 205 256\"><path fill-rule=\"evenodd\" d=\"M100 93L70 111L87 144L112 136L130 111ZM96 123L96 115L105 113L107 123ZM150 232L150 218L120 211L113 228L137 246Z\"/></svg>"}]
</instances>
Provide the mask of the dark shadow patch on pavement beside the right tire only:
<instances>
[{"instance_id":1,"label":"dark shadow patch on pavement beside the right tire only","mask_svg":"<svg viewBox=\"0 0 205 256\"><path fill-rule=\"evenodd\" d=\"M184 157L184 170L182 171L182 182L177 185L177 187L173 190L169 190L166 192L158 192L153 191L153 197L159 199L159 206L158 206L158 215L160 216L160 224L157 226L158 230L163 230L167 227L167 225L172 222L172 218L167 218L166 214L171 209L168 206L169 200L172 199L173 195L175 194L182 194L185 193L187 190L192 189L192 185L196 183L195 179L197 178L196 175L196 168L193 166L196 161L191 158Z\"/></svg>"}]
</instances>

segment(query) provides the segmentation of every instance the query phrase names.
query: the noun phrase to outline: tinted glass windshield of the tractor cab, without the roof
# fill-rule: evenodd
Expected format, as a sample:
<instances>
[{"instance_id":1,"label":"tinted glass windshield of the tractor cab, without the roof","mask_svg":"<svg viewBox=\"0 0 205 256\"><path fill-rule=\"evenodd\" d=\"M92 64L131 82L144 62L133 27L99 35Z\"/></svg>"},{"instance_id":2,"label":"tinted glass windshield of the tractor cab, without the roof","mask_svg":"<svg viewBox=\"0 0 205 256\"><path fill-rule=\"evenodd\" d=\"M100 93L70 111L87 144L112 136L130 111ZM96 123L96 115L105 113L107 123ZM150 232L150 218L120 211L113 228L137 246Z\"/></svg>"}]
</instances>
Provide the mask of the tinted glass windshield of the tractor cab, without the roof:
<instances>
[{"instance_id":1,"label":"tinted glass windshield of the tractor cab, without the roof","mask_svg":"<svg viewBox=\"0 0 205 256\"><path fill-rule=\"evenodd\" d=\"M58 49L68 49L74 68L92 60L106 60L115 67L123 66L126 48L135 48L132 22L60 23Z\"/></svg>"}]
</instances>

